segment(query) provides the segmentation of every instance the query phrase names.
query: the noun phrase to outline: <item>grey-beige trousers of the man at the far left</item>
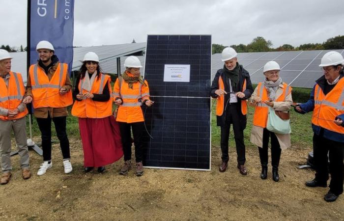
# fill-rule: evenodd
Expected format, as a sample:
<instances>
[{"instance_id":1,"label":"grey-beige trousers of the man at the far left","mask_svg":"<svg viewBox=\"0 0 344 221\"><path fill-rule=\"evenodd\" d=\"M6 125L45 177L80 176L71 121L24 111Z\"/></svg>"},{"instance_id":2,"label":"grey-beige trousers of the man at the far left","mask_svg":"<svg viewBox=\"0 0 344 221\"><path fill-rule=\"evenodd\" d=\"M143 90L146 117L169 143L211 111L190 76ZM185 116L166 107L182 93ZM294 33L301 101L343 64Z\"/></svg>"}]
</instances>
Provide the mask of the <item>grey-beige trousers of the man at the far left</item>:
<instances>
[{"instance_id":1,"label":"grey-beige trousers of the man at the far left","mask_svg":"<svg viewBox=\"0 0 344 221\"><path fill-rule=\"evenodd\" d=\"M17 142L18 153L20 155L20 166L21 168L29 168L29 151L25 117L18 120L0 120L0 156L2 172L9 172L12 170L10 157L12 130Z\"/></svg>"}]
</instances>

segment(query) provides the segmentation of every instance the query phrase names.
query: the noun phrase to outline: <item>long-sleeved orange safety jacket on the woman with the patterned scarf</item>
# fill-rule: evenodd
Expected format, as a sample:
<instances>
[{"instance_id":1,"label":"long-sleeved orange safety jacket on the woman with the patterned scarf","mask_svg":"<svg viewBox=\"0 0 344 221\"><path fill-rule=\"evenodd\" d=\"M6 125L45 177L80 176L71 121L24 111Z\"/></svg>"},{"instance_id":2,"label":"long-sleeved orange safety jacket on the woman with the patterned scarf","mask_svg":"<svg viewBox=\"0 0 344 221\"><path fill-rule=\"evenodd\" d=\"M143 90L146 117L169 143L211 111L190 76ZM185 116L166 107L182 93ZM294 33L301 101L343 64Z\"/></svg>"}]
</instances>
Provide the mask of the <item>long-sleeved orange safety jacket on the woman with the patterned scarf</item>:
<instances>
[{"instance_id":1,"label":"long-sleeved orange safety jacket on the woman with the patterned scarf","mask_svg":"<svg viewBox=\"0 0 344 221\"><path fill-rule=\"evenodd\" d=\"M119 106L116 121L135 123L144 121L143 112L140 106L142 101L149 100L149 88L147 81L144 80L147 86L144 86L140 82L133 83L133 89L129 88L129 84L121 79L121 83L118 82L118 78L114 85L113 97L121 97L123 103Z\"/></svg>"}]
</instances>

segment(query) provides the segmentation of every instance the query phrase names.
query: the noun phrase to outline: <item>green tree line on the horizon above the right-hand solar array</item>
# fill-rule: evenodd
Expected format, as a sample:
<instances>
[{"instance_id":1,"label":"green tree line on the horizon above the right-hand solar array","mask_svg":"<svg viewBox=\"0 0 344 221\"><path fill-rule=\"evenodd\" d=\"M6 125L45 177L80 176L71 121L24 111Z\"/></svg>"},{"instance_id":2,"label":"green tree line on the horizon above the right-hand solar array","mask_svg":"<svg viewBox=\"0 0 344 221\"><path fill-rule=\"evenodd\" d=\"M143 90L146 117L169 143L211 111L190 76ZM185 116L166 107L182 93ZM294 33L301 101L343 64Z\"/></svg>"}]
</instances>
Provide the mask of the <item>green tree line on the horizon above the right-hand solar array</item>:
<instances>
[{"instance_id":1,"label":"green tree line on the horizon above the right-hand solar array","mask_svg":"<svg viewBox=\"0 0 344 221\"><path fill-rule=\"evenodd\" d=\"M213 44L213 54L221 53L224 48L228 46ZM344 49L344 35L338 35L327 39L323 43L303 44L298 47L293 47L289 44L281 45L277 48L272 48L272 42L265 38L258 36L254 38L248 45L230 45L236 52L279 52L279 51L311 51L311 50L335 50Z\"/></svg>"}]
</instances>

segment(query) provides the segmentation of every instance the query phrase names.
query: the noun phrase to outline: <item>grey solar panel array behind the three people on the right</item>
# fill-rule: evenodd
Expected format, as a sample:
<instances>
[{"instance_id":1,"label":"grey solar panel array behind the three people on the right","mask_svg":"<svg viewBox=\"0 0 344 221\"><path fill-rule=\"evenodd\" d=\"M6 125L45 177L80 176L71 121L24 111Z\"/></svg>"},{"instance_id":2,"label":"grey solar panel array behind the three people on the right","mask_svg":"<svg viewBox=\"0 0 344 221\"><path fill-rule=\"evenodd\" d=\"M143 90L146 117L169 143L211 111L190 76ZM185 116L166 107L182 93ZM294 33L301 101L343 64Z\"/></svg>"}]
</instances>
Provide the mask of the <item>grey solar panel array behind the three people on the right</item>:
<instances>
[{"instance_id":1,"label":"grey solar panel array behind the three people on the right","mask_svg":"<svg viewBox=\"0 0 344 221\"><path fill-rule=\"evenodd\" d=\"M344 55L344 50L238 53L238 62L250 73L252 83L264 81L263 67L266 62L274 60L281 67L280 76L284 82L295 87L312 88L315 80L323 74L319 67L321 57L329 51ZM214 79L224 62L221 61L221 54L214 54L212 59Z\"/></svg>"}]
</instances>

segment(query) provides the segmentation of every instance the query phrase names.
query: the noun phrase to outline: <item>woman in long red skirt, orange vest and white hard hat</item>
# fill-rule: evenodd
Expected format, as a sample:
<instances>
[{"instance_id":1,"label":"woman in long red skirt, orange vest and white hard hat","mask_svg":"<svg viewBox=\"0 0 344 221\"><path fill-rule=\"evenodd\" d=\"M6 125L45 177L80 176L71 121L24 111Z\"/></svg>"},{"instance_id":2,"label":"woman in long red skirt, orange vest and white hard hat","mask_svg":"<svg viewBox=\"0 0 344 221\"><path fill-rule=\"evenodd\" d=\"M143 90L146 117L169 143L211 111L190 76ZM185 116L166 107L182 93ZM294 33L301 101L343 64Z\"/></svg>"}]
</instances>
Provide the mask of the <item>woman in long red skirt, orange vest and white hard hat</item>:
<instances>
[{"instance_id":1,"label":"woman in long red skirt, orange vest and white hard hat","mask_svg":"<svg viewBox=\"0 0 344 221\"><path fill-rule=\"evenodd\" d=\"M100 72L99 58L93 52L84 56L73 95L72 115L79 117L84 149L85 172L112 164L123 156L118 123L112 116L110 76Z\"/></svg>"}]
</instances>

